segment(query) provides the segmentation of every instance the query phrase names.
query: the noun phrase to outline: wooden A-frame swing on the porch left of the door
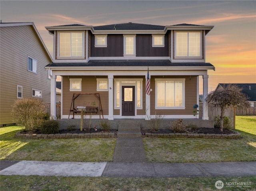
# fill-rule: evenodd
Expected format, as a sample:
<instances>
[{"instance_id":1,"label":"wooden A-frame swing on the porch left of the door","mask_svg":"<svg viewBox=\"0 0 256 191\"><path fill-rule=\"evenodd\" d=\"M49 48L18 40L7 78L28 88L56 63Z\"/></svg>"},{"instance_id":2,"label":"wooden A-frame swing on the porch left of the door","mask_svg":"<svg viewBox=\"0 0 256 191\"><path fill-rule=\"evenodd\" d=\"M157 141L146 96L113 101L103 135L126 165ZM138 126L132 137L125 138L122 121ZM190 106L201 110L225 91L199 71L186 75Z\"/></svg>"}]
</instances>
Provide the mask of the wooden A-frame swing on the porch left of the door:
<instances>
[{"instance_id":1,"label":"wooden A-frame swing on the porch left of the door","mask_svg":"<svg viewBox=\"0 0 256 191\"><path fill-rule=\"evenodd\" d=\"M75 108L75 100L80 95L94 95L99 100L99 106L98 107L97 106L77 106L77 108ZM98 110L100 111L100 113L102 115L102 118L104 119L103 112L102 112L102 105L101 105L101 101L100 101L100 94L99 93L74 93L73 97L72 97L71 105L70 105L68 119L70 117L70 112L73 112L73 118L74 118L74 114L75 113L80 113L80 112L97 113Z\"/></svg>"}]
</instances>

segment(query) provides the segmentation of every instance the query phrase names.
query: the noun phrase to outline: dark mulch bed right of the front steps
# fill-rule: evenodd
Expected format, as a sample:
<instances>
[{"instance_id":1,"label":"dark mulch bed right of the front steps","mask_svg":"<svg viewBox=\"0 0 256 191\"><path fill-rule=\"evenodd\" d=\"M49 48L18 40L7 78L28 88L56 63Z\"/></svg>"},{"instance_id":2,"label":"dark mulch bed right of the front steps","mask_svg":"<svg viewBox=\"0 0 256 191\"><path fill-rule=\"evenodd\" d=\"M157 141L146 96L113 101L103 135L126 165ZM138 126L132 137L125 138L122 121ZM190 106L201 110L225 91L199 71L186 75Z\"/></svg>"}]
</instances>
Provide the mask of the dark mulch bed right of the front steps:
<instances>
[{"instance_id":1,"label":"dark mulch bed right of the front steps","mask_svg":"<svg viewBox=\"0 0 256 191\"><path fill-rule=\"evenodd\" d=\"M166 129L159 129L158 131L151 131L150 129L142 130L142 133L152 133L152 134L169 134L169 133L174 133L172 130L169 128ZM223 129L223 132L220 131L219 128L206 128L206 127L201 127L197 128L196 130L193 131L186 131L186 132L179 132L179 133L197 133L197 134L236 134L236 132L228 129Z\"/></svg>"}]
</instances>

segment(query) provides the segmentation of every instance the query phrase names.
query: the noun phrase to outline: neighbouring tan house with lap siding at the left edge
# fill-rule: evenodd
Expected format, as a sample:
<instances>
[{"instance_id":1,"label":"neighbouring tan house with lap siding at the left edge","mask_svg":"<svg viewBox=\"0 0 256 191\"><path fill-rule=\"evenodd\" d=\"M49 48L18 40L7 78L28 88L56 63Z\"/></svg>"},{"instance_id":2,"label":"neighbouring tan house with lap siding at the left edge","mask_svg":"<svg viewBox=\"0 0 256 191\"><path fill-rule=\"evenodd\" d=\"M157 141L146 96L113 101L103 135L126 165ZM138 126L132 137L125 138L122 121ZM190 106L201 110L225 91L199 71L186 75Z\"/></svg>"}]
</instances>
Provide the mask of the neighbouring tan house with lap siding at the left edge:
<instances>
[{"instance_id":1,"label":"neighbouring tan house with lap siding at the left edge","mask_svg":"<svg viewBox=\"0 0 256 191\"><path fill-rule=\"evenodd\" d=\"M16 99L50 102L50 77L44 66L52 62L34 23L0 23L0 125L12 124Z\"/></svg>"}]
</instances>

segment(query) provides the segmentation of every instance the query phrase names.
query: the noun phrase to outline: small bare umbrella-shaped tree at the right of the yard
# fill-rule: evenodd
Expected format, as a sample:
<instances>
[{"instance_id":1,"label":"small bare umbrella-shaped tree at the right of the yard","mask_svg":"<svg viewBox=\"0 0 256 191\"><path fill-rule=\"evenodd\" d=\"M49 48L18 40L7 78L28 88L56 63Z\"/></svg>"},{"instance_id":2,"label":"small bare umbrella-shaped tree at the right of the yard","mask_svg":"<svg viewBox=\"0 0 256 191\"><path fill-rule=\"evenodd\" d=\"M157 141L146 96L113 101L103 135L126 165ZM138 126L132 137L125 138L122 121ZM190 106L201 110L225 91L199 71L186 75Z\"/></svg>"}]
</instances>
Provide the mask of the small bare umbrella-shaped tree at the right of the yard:
<instances>
[{"instance_id":1,"label":"small bare umbrella-shaped tree at the right of the yard","mask_svg":"<svg viewBox=\"0 0 256 191\"><path fill-rule=\"evenodd\" d=\"M220 131L223 131L224 112L228 107L248 108L248 97L242 93L242 89L229 84L223 89L212 91L206 97L208 103L220 107Z\"/></svg>"}]
</instances>

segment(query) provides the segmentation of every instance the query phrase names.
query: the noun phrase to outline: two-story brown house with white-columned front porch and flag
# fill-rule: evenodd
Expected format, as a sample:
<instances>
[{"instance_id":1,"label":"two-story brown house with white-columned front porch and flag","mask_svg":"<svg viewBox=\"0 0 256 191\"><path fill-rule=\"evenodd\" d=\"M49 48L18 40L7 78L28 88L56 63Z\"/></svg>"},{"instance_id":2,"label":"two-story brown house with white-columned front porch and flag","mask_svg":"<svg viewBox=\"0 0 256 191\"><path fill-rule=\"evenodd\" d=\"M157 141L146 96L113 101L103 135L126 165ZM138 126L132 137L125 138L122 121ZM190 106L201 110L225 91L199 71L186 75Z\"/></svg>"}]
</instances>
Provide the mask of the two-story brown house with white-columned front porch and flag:
<instances>
[{"instance_id":1,"label":"two-story brown house with white-columned front porch and flag","mask_svg":"<svg viewBox=\"0 0 256 191\"><path fill-rule=\"evenodd\" d=\"M193 106L199 104L199 77L206 97L207 71L214 70L205 62L206 34L212 28L135 23L46 27L54 36L54 62L46 66L51 73L51 114L56 112L59 75L62 118L72 116L70 110L76 106L98 105L93 95L79 96L74 104L74 93L99 93L104 118L109 120L148 120L160 114L196 118ZM92 115L99 117L100 112ZM74 118L80 118L80 113L74 113ZM202 118L208 120L206 102Z\"/></svg>"}]
</instances>

